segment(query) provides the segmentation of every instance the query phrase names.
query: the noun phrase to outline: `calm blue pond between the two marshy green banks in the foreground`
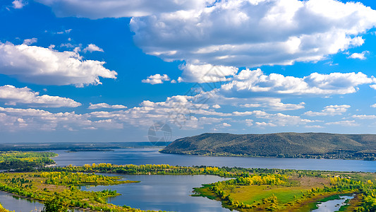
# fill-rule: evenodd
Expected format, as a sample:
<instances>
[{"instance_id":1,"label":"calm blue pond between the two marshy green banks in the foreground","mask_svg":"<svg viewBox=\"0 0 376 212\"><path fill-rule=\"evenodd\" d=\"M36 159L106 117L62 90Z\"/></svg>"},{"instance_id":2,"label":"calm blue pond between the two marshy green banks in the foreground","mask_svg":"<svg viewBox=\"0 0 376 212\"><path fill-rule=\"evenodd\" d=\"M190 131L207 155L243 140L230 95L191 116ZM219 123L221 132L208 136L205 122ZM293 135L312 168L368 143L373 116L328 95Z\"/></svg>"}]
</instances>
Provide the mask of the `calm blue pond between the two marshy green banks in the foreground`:
<instances>
[{"instance_id":1,"label":"calm blue pond between the two marshy green banks in the foreground","mask_svg":"<svg viewBox=\"0 0 376 212\"><path fill-rule=\"evenodd\" d=\"M228 178L211 175L111 175L139 183L112 186L82 187L85 191L116 190L121 196L109 198L111 204L142 210L163 211L229 211L219 201L202 196L190 196L194 187Z\"/></svg>"}]
</instances>

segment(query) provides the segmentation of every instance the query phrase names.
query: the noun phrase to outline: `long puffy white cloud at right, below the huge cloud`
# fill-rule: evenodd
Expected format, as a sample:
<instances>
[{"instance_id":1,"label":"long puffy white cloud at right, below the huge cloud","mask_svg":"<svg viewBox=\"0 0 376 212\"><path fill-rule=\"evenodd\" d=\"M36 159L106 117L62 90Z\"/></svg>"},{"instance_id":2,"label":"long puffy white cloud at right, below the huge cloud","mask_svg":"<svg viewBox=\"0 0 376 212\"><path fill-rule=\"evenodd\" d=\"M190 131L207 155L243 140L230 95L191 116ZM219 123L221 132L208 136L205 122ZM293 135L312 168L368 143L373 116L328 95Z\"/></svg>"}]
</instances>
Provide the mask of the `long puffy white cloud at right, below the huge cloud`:
<instances>
[{"instance_id":1,"label":"long puffy white cloud at right, below the huge cloud","mask_svg":"<svg viewBox=\"0 0 376 212\"><path fill-rule=\"evenodd\" d=\"M265 93L285 95L334 95L356 93L356 86L372 83L364 73L311 73L297 78L279 73L265 75L261 69L245 69L234 76L234 81L222 86L222 93Z\"/></svg>"}]
</instances>

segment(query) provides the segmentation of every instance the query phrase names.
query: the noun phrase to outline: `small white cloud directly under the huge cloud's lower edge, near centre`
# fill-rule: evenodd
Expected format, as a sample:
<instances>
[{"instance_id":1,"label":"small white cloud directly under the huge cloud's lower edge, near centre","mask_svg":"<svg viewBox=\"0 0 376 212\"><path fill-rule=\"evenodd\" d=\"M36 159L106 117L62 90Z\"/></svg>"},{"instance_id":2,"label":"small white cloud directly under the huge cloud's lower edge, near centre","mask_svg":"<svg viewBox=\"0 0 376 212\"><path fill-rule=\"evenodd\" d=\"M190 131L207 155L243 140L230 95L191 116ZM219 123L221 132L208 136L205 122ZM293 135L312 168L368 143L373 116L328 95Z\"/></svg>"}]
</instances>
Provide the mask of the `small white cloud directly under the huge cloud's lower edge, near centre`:
<instances>
[{"instance_id":1,"label":"small white cloud directly under the huge cloud's lower edge, near centre","mask_svg":"<svg viewBox=\"0 0 376 212\"><path fill-rule=\"evenodd\" d=\"M238 72L238 68L234 66L212 66L211 64L193 65L186 64L181 66L183 73L178 78L179 82L198 82L212 83L219 81L229 81Z\"/></svg>"}]
</instances>

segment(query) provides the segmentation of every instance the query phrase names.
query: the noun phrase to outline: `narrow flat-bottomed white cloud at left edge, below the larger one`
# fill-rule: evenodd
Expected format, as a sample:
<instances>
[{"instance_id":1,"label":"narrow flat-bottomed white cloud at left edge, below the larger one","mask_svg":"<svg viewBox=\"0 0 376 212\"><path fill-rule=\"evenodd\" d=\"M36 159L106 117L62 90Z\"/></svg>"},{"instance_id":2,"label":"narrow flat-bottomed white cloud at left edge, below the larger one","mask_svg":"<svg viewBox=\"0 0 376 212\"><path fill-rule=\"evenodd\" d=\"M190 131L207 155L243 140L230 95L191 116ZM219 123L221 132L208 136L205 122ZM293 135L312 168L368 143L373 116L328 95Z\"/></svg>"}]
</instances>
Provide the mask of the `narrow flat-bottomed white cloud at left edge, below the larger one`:
<instances>
[{"instance_id":1,"label":"narrow flat-bottomed white cloud at left edge, below the larger one","mask_svg":"<svg viewBox=\"0 0 376 212\"><path fill-rule=\"evenodd\" d=\"M6 105L28 104L39 107L79 107L81 103L59 96L39 95L30 88L16 88L14 86L0 86L0 101Z\"/></svg>"}]
</instances>

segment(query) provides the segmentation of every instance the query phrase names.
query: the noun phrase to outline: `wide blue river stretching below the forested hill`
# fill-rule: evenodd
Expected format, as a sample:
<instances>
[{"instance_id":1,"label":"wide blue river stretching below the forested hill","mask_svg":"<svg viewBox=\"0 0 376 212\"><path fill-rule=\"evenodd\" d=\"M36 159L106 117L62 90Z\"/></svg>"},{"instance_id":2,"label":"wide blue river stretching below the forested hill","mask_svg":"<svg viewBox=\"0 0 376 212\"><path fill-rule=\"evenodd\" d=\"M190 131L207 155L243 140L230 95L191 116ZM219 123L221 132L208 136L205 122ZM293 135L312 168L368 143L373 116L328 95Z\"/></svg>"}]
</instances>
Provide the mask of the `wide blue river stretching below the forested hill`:
<instances>
[{"instance_id":1,"label":"wide blue river stretching below the forested hill","mask_svg":"<svg viewBox=\"0 0 376 212\"><path fill-rule=\"evenodd\" d=\"M54 151L57 165L85 165L92 163L122 164L169 164L169 165L213 165L218 167L258 167L293 170L329 170L344 172L376 172L376 161L303 159L303 158L242 158L200 155L175 155L159 153L157 148L117 149L106 152Z\"/></svg>"}]
</instances>

